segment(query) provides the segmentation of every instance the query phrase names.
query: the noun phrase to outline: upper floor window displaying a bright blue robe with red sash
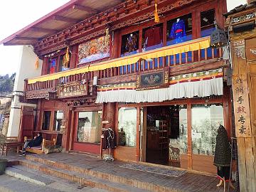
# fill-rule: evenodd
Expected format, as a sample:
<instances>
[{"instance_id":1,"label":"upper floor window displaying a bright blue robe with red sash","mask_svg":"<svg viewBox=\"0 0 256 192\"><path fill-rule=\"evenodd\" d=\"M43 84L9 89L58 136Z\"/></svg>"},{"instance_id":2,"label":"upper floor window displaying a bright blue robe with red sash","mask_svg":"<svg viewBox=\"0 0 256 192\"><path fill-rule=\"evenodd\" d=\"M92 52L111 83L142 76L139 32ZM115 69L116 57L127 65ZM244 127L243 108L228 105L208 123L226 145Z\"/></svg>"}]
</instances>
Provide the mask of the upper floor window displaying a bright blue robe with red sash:
<instances>
[{"instance_id":1,"label":"upper floor window displaying a bright blue robe with red sash","mask_svg":"<svg viewBox=\"0 0 256 192\"><path fill-rule=\"evenodd\" d=\"M167 22L167 46L192 39L192 14L180 16Z\"/></svg>"}]
</instances>

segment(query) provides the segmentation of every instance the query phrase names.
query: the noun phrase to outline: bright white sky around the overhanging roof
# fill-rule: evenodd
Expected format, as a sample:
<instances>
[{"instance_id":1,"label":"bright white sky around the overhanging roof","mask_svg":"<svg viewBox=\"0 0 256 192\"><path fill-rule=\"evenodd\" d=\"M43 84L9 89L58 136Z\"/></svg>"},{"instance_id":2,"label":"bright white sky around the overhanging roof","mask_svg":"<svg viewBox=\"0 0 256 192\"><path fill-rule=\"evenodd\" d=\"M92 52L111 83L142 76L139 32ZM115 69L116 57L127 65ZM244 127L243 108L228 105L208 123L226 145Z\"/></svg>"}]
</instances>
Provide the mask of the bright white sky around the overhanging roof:
<instances>
[{"instance_id":1,"label":"bright white sky around the overhanging roof","mask_svg":"<svg viewBox=\"0 0 256 192\"><path fill-rule=\"evenodd\" d=\"M246 0L227 0L228 10L245 4ZM0 1L0 40L11 36L28 26L38 18L45 16L67 3L68 0L1 0ZM11 8L11 9L10 9ZM19 60L20 46L0 45L0 75L16 72Z\"/></svg>"}]
</instances>

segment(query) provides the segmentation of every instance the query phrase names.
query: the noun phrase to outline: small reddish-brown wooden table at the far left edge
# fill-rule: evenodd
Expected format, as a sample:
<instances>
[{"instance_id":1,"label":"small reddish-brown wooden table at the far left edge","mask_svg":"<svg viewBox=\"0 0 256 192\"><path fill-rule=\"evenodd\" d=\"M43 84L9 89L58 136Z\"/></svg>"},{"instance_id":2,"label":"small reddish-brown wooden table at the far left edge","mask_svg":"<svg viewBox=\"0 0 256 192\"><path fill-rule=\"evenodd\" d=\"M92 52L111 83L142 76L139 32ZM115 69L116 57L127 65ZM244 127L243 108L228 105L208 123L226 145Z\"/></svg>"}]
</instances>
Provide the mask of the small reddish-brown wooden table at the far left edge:
<instances>
[{"instance_id":1,"label":"small reddish-brown wooden table at the far left edge","mask_svg":"<svg viewBox=\"0 0 256 192\"><path fill-rule=\"evenodd\" d=\"M12 147L17 148L17 153L23 146L23 142L18 140L18 137L4 137L4 142L1 142L1 155L5 154L7 156L8 150Z\"/></svg>"}]
</instances>

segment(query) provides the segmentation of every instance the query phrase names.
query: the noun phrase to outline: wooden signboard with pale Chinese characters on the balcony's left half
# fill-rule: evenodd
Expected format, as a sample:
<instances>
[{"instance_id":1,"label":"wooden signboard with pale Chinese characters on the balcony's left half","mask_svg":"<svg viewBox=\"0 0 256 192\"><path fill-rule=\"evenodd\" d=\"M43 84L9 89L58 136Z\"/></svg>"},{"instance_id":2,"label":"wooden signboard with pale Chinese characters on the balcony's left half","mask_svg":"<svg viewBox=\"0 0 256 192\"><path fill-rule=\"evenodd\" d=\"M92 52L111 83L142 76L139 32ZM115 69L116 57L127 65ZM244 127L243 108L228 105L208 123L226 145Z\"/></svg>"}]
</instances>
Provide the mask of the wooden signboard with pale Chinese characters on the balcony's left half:
<instances>
[{"instance_id":1,"label":"wooden signboard with pale Chinese characters on the balcony's left half","mask_svg":"<svg viewBox=\"0 0 256 192\"><path fill-rule=\"evenodd\" d=\"M69 82L64 85L60 85L58 88L58 97L80 97L88 95L88 84L84 81Z\"/></svg>"}]
</instances>

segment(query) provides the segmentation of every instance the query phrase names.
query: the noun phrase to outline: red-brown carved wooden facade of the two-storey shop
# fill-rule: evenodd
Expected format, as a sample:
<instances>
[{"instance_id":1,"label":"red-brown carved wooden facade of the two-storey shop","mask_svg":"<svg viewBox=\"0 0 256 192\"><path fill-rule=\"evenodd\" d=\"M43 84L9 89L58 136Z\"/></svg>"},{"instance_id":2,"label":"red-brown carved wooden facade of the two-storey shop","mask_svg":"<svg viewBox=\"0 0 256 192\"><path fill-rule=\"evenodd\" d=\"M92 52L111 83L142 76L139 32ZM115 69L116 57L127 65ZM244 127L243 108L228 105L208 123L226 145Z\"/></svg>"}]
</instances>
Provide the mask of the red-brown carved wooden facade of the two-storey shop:
<instances>
[{"instance_id":1,"label":"red-brown carved wooden facade of the two-storey shop","mask_svg":"<svg viewBox=\"0 0 256 192\"><path fill-rule=\"evenodd\" d=\"M115 134L117 134L117 139L119 139L118 133L122 132L119 127L119 110L132 108L135 110L136 115L134 116L136 122L134 144L132 146L117 145L117 148L112 150L112 154L115 159L123 161L146 162L146 159L149 158L146 155L147 110L150 107L157 106L167 107L167 110L170 110L170 107L185 106L187 127L186 153L178 157L180 159L178 162L174 160L170 164L179 164L179 167L183 169L215 174L213 154L209 154L209 151L203 151L204 154L193 152L193 147L196 145L193 137L196 139L203 139L203 137L194 130L192 116L194 115L195 110L193 110L193 107L195 106L205 106L206 108L211 105L221 106L223 110L221 111L223 125L227 129L229 136L232 132L230 90L225 82L225 69L229 67L229 63L223 60L222 48L210 48L210 33L208 35L203 33L205 29L213 30L214 28L213 22L205 18L203 14L211 13L213 15L212 19L217 21L218 26L224 27L225 18L222 14L227 11L226 1L159 0L156 2L158 4L159 23L154 21L154 1L110 1L114 6L107 9L107 11L97 11L97 14L94 14L92 13L92 10L94 10L92 7L97 6L95 10L98 10L100 3L97 5L96 3L92 4L90 16L84 16L84 20L65 26L61 30L51 26L51 30L44 31L48 34L40 40L35 37L28 39L27 37L17 38L16 36L7 39L6 45L15 43L33 44L35 53L38 54L39 58L43 59L42 76L25 80L24 87L26 99L38 102L34 130L35 132L43 132L44 137L48 137L46 139L58 137L57 140L59 140L59 143L66 151L82 151L102 155L107 151L102 151L102 138L99 140L96 135L97 133L91 133L95 138L97 137L96 142L80 142L80 139L85 141L85 138L78 136L79 119L82 119L82 115L87 114L86 112L90 112L92 118L100 119L100 124L95 125L95 127L100 126L100 134L102 134L102 127L111 127ZM68 23L75 22L75 19L77 19L75 16L78 15L74 14L73 19L68 19L67 16L64 16L65 11L72 9L73 11L87 12L88 9L85 9L87 6L78 6L78 4L70 3L63 9L62 17L60 12L58 12L58 16L54 16L54 18L59 22L60 20ZM188 21L187 25L191 28L187 31L188 39L183 42L170 44L171 21L179 17L186 18L186 21ZM41 22L43 23L44 21ZM206 24L203 25L203 22L206 22ZM33 33L39 35L38 31L40 30L35 28L39 28L40 25L43 28L43 24L36 23L34 27L26 28L26 30L32 33L31 30L33 29ZM161 47L144 50L144 31L152 26L160 26L161 28ZM137 53L125 55L125 53L122 53L122 48L124 47L122 39L131 33L138 34ZM25 33L23 34L23 36L26 35ZM81 62L79 55L80 46L90 41L98 42L97 39L100 37L109 39L109 55L98 60ZM68 52L70 62L68 70L62 71L60 60L63 60L65 57L67 48L70 50ZM55 69L51 71L49 66L53 63L53 60L55 62ZM177 82L172 80L175 79L174 77L182 77L183 75L191 77L191 75L197 73L200 75L206 74L205 77L198 79L199 81L204 80L203 78L206 80L217 78L218 75L209 76L209 71L210 73L221 73L223 92L220 95L210 94L206 97L196 97L197 95L193 95L195 97L176 97L172 100L166 99L158 102L95 102L99 98L99 92L107 92L107 89L110 89L111 86L135 86L138 75L151 74L162 69L167 72L168 84L177 84ZM87 94L78 94L75 97L58 97L57 92L60 87L72 84L73 82L79 82L80 85L86 82ZM186 82L193 82L193 79L188 78ZM161 88L167 89L168 87ZM155 87L153 91L158 88ZM122 89L136 90L136 86L132 88L122 87L118 90ZM73 88L72 90L68 88L68 93L73 91ZM137 91L139 92L140 90ZM60 122L55 122L55 119L58 119L58 115L60 115L59 113L63 113L61 125L58 124ZM102 124L102 122L108 123ZM90 138L86 139L86 141L90 140ZM204 162L203 166L201 164L202 161Z\"/></svg>"}]
</instances>

